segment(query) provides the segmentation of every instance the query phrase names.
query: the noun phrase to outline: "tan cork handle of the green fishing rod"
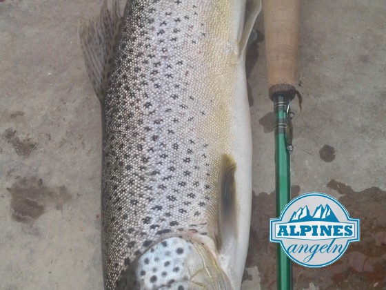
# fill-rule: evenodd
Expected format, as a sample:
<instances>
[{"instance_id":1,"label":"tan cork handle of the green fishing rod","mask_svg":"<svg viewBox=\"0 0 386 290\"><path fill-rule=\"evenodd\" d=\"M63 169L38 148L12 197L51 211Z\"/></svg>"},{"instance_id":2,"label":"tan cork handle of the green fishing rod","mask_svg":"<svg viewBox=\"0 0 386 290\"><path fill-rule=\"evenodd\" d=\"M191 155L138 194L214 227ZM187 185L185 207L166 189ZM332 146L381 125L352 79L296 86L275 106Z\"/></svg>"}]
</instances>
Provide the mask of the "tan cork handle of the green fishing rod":
<instances>
[{"instance_id":1,"label":"tan cork handle of the green fishing rod","mask_svg":"<svg viewBox=\"0 0 386 290\"><path fill-rule=\"evenodd\" d=\"M263 3L268 88L272 93L294 90L297 79L299 1Z\"/></svg>"}]
</instances>

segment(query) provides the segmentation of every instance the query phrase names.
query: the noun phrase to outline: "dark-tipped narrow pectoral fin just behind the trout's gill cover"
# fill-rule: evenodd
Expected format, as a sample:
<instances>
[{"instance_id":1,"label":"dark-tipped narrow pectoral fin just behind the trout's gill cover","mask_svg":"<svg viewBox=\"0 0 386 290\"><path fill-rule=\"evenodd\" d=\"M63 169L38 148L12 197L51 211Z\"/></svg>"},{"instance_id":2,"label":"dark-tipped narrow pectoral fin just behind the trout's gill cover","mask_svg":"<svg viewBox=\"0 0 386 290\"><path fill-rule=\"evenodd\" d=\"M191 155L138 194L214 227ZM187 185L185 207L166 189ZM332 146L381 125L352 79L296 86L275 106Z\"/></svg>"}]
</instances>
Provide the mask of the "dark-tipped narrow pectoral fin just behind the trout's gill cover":
<instances>
[{"instance_id":1,"label":"dark-tipped narrow pectoral fin just behind the trout's gill cover","mask_svg":"<svg viewBox=\"0 0 386 290\"><path fill-rule=\"evenodd\" d=\"M230 238L237 235L237 211L236 200L236 162L230 155L223 155L221 160L221 179L219 195L219 224L218 235L216 236L217 250L220 251L223 245Z\"/></svg>"}]
</instances>

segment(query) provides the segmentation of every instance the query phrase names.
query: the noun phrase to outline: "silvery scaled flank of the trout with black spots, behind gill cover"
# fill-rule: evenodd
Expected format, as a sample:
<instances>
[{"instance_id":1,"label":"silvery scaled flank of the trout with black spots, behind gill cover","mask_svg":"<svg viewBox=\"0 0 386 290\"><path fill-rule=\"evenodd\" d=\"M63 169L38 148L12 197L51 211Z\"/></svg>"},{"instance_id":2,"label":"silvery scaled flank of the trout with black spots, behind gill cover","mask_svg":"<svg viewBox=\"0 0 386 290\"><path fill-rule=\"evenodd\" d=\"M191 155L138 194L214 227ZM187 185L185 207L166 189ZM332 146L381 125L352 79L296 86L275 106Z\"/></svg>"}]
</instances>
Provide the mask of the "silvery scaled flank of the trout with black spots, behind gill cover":
<instances>
[{"instance_id":1,"label":"silvery scaled flank of the trout with black spots, behind gill cover","mask_svg":"<svg viewBox=\"0 0 386 290\"><path fill-rule=\"evenodd\" d=\"M226 101L216 94L221 84L205 84L205 57L211 57L203 48L211 41L204 24L208 21L200 17L205 6L158 2L157 8L149 5L152 1L127 6L116 69L103 101L104 128L109 132L103 138L102 197L108 280L116 280L125 267L123 260L134 260L160 235L207 233L207 223L216 222L216 181L224 149L219 133L229 120L212 122L206 117L214 117L211 109L216 106L223 106L226 116L227 104L218 104ZM147 32L152 37L146 37ZM221 66L216 70L227 71ZM204 83L191 86L195 78ZM196 131L204 124L214 138ZM123 224L114 223L118 219ZM130 242L135 242L131 248Z\"/></svg>"}]
</instances>

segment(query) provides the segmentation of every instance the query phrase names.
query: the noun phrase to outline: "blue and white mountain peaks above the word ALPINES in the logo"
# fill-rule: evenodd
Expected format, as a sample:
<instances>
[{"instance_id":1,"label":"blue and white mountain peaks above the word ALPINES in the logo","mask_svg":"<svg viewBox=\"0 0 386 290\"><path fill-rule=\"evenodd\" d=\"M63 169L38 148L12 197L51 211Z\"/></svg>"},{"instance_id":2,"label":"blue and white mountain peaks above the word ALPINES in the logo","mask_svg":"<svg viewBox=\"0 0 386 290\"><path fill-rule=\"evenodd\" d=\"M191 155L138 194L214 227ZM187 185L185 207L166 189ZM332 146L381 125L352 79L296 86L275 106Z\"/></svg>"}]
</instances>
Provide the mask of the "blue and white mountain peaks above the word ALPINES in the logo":
<instances>
[{"instance_id":1,"label":"blue and white mountain peaks above the word ALPINES in the logo","mask_svg":"<svg viewBox=\"0 0 386 290\"><path fill-rule=\"evenodd\" d=\"M339 222L328 204L326 204L325 207L323 207L323 205L316 207L314 215L309 214L307 206L301 207L297 211L294 211L289 222L309 222L316 220L323 222Z\"/></svg>"}]
</instances>

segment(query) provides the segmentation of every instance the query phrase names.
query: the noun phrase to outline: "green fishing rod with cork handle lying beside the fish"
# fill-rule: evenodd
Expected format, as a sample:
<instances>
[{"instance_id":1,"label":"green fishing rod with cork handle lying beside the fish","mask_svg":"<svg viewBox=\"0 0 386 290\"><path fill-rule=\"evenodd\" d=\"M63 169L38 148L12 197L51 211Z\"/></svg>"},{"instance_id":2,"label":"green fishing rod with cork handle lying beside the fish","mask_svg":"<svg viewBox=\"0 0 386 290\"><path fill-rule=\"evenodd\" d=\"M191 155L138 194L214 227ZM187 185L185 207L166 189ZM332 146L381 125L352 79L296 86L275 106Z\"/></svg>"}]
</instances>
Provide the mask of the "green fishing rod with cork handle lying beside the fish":
<instances>
[{"instance_id":1,"label":"green fishing rod with cork handle lying beside the fish","mask_svg":"<svg viewBox=\"0 0 386 290\"><path fill-rule=\"evenodd\" d=\"M265 0L263 2L265 50L268 70L268 92L274 102L275 115L275 188L276 215L290 202L290 152L292 122L290 103L296 95L298 61L298 0ZM277 289L292 289L292 262L281 245L276 251Z\"/></svg>"}]
</instances>

